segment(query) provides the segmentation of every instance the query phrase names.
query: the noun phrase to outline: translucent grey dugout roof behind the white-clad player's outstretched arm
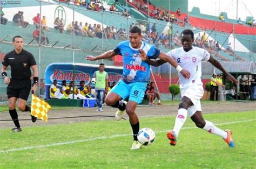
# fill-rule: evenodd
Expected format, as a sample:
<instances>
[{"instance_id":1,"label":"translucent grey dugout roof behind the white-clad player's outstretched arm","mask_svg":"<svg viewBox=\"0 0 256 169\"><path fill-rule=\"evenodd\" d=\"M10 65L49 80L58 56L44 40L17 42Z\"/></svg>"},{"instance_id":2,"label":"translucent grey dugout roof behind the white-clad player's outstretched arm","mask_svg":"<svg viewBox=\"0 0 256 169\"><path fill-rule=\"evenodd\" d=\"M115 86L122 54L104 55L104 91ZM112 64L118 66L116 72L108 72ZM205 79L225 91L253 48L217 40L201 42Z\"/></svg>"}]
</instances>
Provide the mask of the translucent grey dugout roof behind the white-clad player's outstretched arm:
<instances>
[{"instance_id":1,"label":"translucent grey dugout roof behind the white-clad player's outstretched arm","mask_svg":"<svg viewBox=\"0 0 256 169\"><path fill-rule=\"evenodd\" d=\"M230 72L231 74L256 74L256 62L255 61L220 61L220 64ZM204 74L212 74L214 66L209 62L203 62L202 72ZM216 73L221 73L216 68Z\"/></svg>"}]
</instances>

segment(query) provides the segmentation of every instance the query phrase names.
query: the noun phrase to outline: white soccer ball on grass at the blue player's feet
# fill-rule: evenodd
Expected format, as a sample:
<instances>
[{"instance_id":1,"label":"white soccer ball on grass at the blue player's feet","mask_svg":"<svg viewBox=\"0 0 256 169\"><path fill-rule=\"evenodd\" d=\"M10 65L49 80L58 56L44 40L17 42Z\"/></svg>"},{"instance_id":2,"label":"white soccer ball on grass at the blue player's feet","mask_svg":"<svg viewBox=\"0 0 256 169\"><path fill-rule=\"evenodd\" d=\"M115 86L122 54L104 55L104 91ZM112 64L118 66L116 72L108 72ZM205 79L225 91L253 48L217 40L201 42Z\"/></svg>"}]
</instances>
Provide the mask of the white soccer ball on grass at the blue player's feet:
<instances>
[{"instance_id":1,"label":"white soccer ball on grass at the blue player's feet","mask_svg":"<svg viewBox=\"0 0 256 169\"><path fill-rule=\"evenodd\" d=\"M139 130L138 141L142 145L150 145L154 142L154 131L150 128L143 128Z\"/></svg>"}]
</instances>

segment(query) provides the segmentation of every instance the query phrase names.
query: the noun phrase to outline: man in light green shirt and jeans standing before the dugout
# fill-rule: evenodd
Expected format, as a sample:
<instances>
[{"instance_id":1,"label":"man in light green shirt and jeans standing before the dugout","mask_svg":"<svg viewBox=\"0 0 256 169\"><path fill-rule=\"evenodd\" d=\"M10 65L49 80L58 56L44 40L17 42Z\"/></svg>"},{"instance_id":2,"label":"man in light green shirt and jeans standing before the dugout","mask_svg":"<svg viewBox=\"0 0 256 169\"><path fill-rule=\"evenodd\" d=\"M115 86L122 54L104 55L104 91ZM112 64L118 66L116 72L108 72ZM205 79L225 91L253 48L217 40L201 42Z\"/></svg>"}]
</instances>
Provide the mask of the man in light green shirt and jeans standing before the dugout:
<instances>
[{"instance_id":1,"label":"man in light green shirt and jeans standing before the dugout","mask_svg":"<svg viewBox=\"0 0 256 169\"><path fill-rule=\"evenodd\" d=\"M103 111L102 110L102 103L103 103L103 96L104 93L107 93L107 90L109 89L109 83L107 79L109 79L109 76L104 71L104 64L99 64L99 71L96 71L92 77L96 78L95 83L95 91L96 91L96 100L98 104L97 111Z\"/></svg>"}]
</instances>

